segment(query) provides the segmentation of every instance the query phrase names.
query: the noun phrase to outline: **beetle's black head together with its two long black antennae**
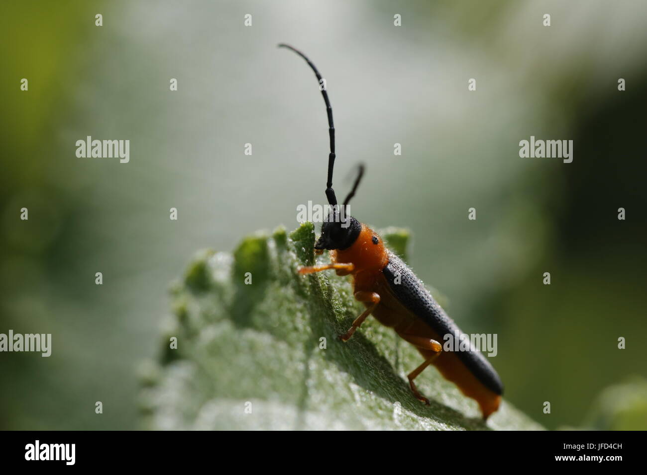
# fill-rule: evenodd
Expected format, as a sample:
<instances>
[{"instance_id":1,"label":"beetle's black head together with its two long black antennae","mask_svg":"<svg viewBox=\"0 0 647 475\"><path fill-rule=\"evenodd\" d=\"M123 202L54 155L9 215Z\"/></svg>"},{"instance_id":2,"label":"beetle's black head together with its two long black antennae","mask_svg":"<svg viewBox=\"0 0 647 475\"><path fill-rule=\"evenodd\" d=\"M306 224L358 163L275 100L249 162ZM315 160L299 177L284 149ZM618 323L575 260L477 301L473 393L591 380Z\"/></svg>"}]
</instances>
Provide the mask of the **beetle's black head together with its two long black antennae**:
<instances>
[{"instance_id":1,"label":"beetle's black head together with its two long black antennae","mask_svg":"<svg viewBox=\"0 0 647 475\"><path fill-rule=\"evenodd\" d=\"M323 79L319 71L314 67L312 61L308 59L302 52L290 45L281 43L279 47L288 48L301 56L308 65L313 69L314 75L317 77L321 84ZM326 182L325 195L328 198L328 204L332 207L331 212L324 220L322 225L322 235L317 240L314 249L346 249L349 248L357 239L362 231L362 224L358 222L353 216L345 215L345 208L348 202L355 196L355 191L362 180L364 175L364 165L359 165L357 178L351 192L348 193L342 209L337 204L337 197L333 190L333 168L334 168L334 125L333 125L333 108L328 100L328 92L325 88L321 89L323 101L325 102L326 112L328 114L328 133L330 136L330 153L328 154L328 180Z\"/></svg>"}]
</instances>

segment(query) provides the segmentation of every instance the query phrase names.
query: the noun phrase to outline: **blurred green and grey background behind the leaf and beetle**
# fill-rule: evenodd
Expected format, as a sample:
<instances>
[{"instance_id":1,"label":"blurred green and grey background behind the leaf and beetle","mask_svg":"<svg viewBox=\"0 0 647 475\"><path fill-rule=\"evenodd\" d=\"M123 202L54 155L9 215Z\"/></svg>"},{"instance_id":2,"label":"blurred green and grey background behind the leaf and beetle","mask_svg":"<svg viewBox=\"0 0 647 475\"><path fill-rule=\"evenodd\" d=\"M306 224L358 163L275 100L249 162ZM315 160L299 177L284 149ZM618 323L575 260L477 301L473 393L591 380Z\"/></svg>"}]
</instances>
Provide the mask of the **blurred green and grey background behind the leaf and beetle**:
<instances>
[{"instance_id":1,"label":"blurred green and grey background behind the leaf and beetle","mask_svg":"<svg viewBox=\"0 0 647 475\"><path fill-rule=\"evenodd\" d=\"M352 214L411 229L448 313L498 333L507 399L549 428L647 428L644 1L0 9L0 332L53 339L0 354L0 428L140 427L137 366L193 252L323 202L325 109L283 41L327 79L338 193L365 162ZM88 135L130 140L129 164L76 158ZM520 158L531 135L574 140L573 163Z\"/></svg>"}]
</instances>

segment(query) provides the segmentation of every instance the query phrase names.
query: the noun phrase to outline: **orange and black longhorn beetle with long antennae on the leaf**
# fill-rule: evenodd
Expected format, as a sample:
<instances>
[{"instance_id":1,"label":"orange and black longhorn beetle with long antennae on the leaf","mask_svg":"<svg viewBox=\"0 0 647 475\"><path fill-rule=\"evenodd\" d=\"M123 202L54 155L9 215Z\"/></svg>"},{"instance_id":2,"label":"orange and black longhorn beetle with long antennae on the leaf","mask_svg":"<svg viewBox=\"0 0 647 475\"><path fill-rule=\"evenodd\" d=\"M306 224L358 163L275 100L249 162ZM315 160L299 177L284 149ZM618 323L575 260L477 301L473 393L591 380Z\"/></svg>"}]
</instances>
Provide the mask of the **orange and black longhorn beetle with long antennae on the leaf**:
<instances>
[{"instance_id":1,"label":"orange and black longhorn beetle with long antennae on the leaf","mask_svg":"<svg viewBox=\"0 0 647 475\"><path fill-rule=\"evenodd\" d=\"M348 341L369 315L381 324L393 328L405 341L415 346L424 358L423 363L408 374L413 395L422 403L429 400L418 391L413 380L430 364L465 394L475 399L481 408L483 419L499 408L503 384L499 375L487 359L474 348L470 341L464 341L467 351L443 351L439 343L446 335L463 335L458 326L433 299L413 271L390 251L382 238L366 224L343 211L353 198L364 175L360 165L358 175L350 193L340 207L333 190L334 167L334 125L325 82L314 64L296 48L281 43L279 47L289 48L301 56L313 69L318 79L328 116L330 153L328 155L328 176L325 195L330 211L323 220L321 235L314 245L316 254L329 251L330 264L307 266L298 269L300 274L311 274L334 269L337 275L353 278L355 299L366 306L351 328L340 335Z\"/></svg>"}]
</instances>

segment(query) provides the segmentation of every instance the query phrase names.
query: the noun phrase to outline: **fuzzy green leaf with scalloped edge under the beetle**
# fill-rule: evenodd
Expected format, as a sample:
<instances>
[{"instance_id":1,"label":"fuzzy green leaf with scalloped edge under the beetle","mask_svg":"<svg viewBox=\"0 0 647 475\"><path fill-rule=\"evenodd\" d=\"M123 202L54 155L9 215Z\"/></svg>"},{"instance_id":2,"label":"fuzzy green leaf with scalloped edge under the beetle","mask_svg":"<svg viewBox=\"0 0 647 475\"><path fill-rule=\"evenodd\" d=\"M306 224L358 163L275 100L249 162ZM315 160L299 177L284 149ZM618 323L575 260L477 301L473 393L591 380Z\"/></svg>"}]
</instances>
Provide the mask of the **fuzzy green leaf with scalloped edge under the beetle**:
<instances>
[{"instance_id":1,"label":"fuzzy green leaf with scalloped edge under the beetle","mask_svg":"<svg viewBox=\"0 0 647 475\"><path fill-rule=\"evenodd\" d=\"M386 229L382 237L406 258L408 231ZM476 402L435 368L416 380L431 400L422 405L406 379L419 354L375 319L339 341L363 309L347 277L296 273L315 261L314 238L306 223L289 236L279 228L245 238L233 255L196 255L171 289L160 359L140 371L145 427L542 428L505 401L486 425Z\"/></svg>"}]
</instances>

